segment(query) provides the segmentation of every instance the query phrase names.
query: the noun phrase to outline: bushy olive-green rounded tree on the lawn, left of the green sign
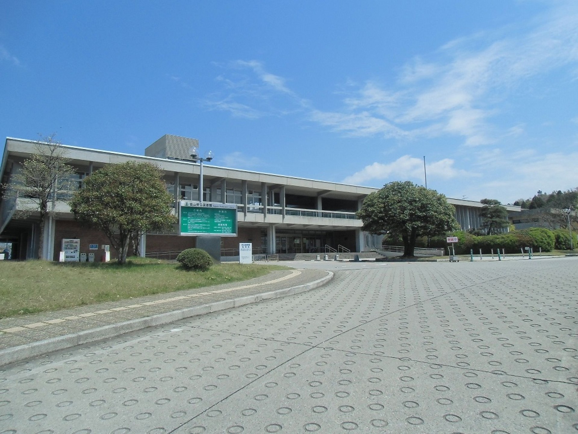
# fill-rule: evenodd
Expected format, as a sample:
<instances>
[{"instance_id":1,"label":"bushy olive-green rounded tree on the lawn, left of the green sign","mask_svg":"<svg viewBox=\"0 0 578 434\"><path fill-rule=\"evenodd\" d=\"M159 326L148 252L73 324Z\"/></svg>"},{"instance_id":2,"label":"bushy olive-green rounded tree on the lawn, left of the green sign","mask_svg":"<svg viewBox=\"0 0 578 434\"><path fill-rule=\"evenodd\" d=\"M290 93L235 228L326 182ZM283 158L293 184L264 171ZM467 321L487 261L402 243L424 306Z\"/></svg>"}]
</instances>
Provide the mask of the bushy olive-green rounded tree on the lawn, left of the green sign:
<instances>
[{"instance_id":1,"label":"bushy olive-green rounded tree on the lawn, left of the green sign","mask_svg":"<svg viewBox=\"0 0 578 434\"><path fill-rule=\"evenodd\" d=\"M106 234L118 252L118 263L124 264L132 237L176 222L173 203L158 167L128 161L88 176L70 204L79 222Z\"/></svg>"}]
</instances>

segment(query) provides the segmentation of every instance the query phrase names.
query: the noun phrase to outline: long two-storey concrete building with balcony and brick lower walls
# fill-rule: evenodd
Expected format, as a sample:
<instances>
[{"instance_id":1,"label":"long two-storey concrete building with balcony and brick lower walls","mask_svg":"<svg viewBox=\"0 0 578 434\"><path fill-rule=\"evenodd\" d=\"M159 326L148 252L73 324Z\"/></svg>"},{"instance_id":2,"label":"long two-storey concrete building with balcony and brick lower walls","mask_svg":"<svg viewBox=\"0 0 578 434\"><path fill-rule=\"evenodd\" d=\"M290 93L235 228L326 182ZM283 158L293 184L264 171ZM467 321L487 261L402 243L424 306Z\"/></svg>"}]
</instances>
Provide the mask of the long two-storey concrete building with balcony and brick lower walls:
<instances>
[{"instance_id":1,"label":"long two-storey concrete building with balcony and brick lower walls","mask_svg":"<svg viewBox=\"0 0 578 434\"><path fill-rule=\"evenodd\" d=\"M188 155L192 145L198 146L198 140L164 135L146 149L144 156L67 145L62 145L62 149L75 168L71 176L76 187L81 187L83 178L106 164L139 161L158 165L164 171L167 191L175 197L176 208L179 200L199 197L199 164ZM35 152L38 152L36 142L7 138L0 166L2 183L10 185L23 161ZM203 170L203 200L238 205L238 237L221 238L223 256L234 255L239 242L251 242L253 253L267 254L324 253L328 248L365 252L381 246L381 237L364 233L361 220L355 218L362 201L375 188L208 164L203 165ZM23 197L4 197L0 201L0 242L10 243L12 258L16 259L34 258L38 245L38 215L17 218L16 214L28 201ZM462 229L481 226L479 202L450 198L448 201L455 206ZM75 222L65 201L55 203L54 211L46 224L43 255L46 259L58 260L65 238L80 239L81 252L102 256L103 245L109 244L102 233ZM194 237L181 237L176 230L147 233L140 243L140 253L180 252L194 246Z\"/></svg>"}]
</instances>

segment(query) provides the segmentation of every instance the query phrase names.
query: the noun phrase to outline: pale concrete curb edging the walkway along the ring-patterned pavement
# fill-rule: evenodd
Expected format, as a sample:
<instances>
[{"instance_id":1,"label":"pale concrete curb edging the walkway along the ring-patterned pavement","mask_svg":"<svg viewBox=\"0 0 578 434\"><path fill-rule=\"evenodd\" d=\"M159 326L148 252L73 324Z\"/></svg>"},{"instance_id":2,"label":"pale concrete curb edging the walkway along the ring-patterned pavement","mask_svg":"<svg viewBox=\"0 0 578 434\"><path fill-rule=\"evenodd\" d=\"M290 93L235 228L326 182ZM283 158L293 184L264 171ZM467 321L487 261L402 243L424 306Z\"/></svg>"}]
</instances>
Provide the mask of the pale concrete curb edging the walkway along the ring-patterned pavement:
<instances>
[{"instance_id":1,"label":"pale concrete curb edging the walkway along the ring-patterned pavement","mask_svg":"<svg viewBox=\"0 0 578 434\"><path fill-rule=\"evenodd\" d=\"M334 277L332 271L327 271L327 276L291 288L277 289L274 291L264 292L261 294L237 297L235 299L215 301L214 303L202 304L201 306L187 307L181 310L164 312L162 314L151 315L149 317L131 319L129 321L110 324L82 332L65 334L63 336L53 337L31 344L18 345L17 347L5 348L0 350L0 366L9 363L21 362L25 359L36 357L53 351L65 350L65 348L75 347L76 345L88 344L102 339L120 336L124 333L136 332L136 330L146 329L158 325L168 324L180 319L198 317L199 315L209 314L234 307L244 306L245 304L258 303L263 300L271 300L288 295L299 294L327 284Z\"/></svg>"}]
</instances>

